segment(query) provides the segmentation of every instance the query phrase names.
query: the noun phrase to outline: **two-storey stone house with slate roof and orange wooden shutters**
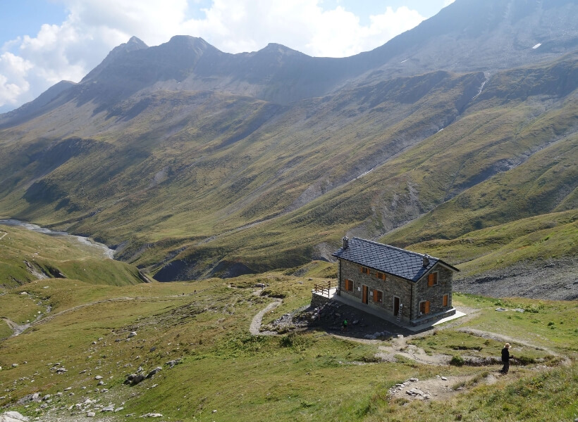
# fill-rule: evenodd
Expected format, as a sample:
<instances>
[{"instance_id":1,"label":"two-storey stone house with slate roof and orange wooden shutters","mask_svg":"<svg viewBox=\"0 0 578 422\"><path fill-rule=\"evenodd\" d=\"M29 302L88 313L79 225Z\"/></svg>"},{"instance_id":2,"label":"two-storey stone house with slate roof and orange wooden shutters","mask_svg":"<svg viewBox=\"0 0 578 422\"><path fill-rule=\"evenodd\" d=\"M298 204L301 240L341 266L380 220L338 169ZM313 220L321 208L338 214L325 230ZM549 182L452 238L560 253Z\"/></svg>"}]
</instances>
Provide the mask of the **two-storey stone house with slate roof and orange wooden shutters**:
<instances>
[{"instance_id":1,"label":"two-storey stone house with slate roof and orange wooden shutters","mask_svg":"<svg viewBox=\"0 0 578 422\"><path fill-rule=\"evenodd\" d=\"M343 238L337 294L402 326L455 314L452 278L460 271L438 258L361 238Z\"/></svg>"}]
</instances>

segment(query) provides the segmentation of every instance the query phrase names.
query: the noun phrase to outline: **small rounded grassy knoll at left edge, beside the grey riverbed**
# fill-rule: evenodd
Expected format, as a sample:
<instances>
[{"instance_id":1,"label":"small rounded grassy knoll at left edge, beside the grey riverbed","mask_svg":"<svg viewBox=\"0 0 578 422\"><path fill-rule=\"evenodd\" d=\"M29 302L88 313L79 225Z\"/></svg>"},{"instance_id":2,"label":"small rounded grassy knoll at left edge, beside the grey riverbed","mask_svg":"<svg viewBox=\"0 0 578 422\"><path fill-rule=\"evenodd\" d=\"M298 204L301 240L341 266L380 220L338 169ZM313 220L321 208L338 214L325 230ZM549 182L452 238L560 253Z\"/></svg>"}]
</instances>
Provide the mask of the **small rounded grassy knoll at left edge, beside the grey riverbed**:
<instances>
[{"instance_id":1,"label":"small rounded grassy knoll at left edge, beside the grey riverbed","mask_svg":"<svg viewBox=\"0 0 578 422\"><path fill-rule=\"evenodd\" d=\"M0 225L0 237L0 289L54 277L113 286L142 283L135 266L106 259L72 236Z\"/></svg>"}]
</instances>

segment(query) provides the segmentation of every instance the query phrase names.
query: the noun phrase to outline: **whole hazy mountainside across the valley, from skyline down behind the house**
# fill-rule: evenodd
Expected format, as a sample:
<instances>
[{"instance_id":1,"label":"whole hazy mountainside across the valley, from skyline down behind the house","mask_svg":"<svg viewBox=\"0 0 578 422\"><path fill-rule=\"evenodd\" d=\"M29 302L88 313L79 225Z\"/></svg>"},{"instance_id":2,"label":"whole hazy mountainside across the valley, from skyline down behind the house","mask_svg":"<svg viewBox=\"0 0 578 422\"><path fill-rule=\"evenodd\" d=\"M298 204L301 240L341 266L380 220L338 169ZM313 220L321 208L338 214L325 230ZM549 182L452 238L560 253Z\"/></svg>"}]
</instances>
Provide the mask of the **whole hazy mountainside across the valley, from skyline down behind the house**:
<instances>
[{"instance_id":1,"label":"whole hazy mountainside across the valley, from skyline down behind the house","mask_svg":"<svg viewBox=\"0 0 578 422\"><path fill-rule=\"evenodd\" d=\"M133 38L39 114L3 120L0 213L90 234L168 281L328 259L344 233L410 245L572 210L578 55L558 53L576 5L524 4L458 0L344 59ZM498 70L488 45L508 31L559 44L519 44L500 66L529 64ZM437 54L426 35L491 72L443 70L467 68L459 54L388 70L403 40Z\"/></svg>"}]
</instances>

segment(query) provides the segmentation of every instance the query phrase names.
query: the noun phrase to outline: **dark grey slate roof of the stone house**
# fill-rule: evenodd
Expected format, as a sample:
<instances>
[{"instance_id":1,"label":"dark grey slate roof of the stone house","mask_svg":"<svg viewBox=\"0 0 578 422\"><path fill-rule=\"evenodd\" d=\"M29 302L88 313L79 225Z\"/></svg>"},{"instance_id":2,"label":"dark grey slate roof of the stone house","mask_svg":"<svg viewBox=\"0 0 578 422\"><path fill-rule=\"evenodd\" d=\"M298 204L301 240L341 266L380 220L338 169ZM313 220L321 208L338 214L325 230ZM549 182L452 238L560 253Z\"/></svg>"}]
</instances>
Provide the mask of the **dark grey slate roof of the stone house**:
<instances>
[{"instance_id":1,"label":"dark grey slate roof of the stone house","mask_svg":"<svg viewBox=\"0 0 578 422\"><path fill-rule=\"evenodd\" d=\"M429 264L424 267L421 253L360 238L350 238L348 248L340 248L333 256L409 281L418 281L438 262L453 271L460 271L435 257L429 257Z\"/></svg>"}]
</instances>

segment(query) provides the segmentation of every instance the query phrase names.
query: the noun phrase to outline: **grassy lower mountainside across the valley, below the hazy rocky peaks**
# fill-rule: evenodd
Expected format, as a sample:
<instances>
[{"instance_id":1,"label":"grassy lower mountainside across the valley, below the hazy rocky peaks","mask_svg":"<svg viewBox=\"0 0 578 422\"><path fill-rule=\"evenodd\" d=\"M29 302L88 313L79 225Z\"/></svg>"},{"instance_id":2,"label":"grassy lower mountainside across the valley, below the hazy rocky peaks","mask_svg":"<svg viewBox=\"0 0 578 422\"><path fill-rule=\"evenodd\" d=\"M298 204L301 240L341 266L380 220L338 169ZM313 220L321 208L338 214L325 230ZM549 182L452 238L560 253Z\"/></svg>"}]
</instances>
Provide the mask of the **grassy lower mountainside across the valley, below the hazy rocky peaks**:
<instances>
[{"instance_id":1,"label":"grassy lower mountainside across the valley, below the hazy rocky peaks","mask_svg":"<svg viewBox=\"0 0 578 422\"><path fill-rule=\"evenodd\" d=\"M164 280L295 267L345 233L404 246L574 210L577 63L499 72L481 93L481 72L431 72L290 106L66 103L0 131L0 210L118 245Z\"/></svg>"}]
</instances>

